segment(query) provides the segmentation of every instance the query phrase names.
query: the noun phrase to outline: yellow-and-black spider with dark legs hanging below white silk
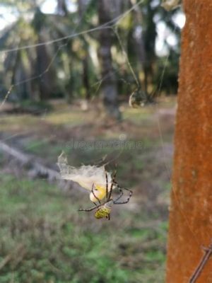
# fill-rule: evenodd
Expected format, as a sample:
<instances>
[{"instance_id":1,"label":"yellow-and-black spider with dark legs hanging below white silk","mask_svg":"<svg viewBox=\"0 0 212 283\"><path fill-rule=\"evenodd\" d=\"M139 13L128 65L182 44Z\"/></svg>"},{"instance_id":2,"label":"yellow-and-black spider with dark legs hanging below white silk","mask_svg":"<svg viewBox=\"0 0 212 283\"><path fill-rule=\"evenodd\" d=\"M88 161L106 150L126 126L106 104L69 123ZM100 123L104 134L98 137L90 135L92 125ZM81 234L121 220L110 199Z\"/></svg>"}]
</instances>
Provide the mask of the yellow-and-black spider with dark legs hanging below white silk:
<instances>
[{"instance_id":1,"label":"yellow-and-black spider with dark legs hanging below white silk","mask_svg":"<svg viewBox=\"0 0 212 283\"><path fill-rule=\"evenodd\" d=\"M100 199L98 199L98 197L95 195L94 184L93 184L91 192L93 193L93 196L95 197L95 199L98 200L99 204L95 204L95 202L93 202L95 204L95 207L91 207L89 209L78 209L78 211L80 211L80 212L91 212L94 209L96 209L95 215L94 215L96 219L102 219L102 218L105 217L107 220L110 220L110 212L112 210L112 204L126 204L127 202L129 202L133 192L129 189L126 189L125 187L123 189L127 190L129 192L129 196L128 196L126 201L118 202L118 200L120 200L122 195L124 195L124 192L123 192L122 188L119 187L117 182L115 182L115 180L114 180L115 175L116 175L116 173L114 173L114 175L113 175L110 190L108 191L108 178L107 178L107 172L105 172L105 178L106 178L106 200L105 200L105 202L101 203ZM113 188L114 185L119 189L119 192L120 192L119 196L115 200L112 199L112 188Z\"/></svg>"}]
</instances>

